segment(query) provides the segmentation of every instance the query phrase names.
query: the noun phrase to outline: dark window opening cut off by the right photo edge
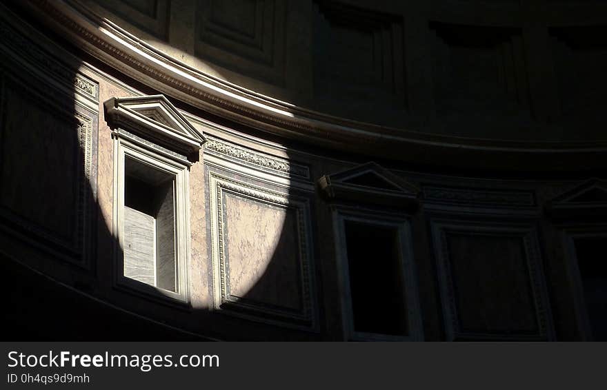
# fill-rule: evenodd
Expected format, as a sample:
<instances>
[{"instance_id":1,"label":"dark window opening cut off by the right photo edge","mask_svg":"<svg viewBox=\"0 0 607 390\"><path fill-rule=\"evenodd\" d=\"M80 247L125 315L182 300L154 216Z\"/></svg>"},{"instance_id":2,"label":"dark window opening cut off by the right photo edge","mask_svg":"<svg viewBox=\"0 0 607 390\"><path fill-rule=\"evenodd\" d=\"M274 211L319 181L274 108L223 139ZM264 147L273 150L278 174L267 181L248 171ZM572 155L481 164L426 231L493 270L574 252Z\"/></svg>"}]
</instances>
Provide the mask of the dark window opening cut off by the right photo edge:
<instances>
[{"instance_id":1,"label":"dark window opening cut off by the right photo edge","mask_svg":"<svg viewBox=\"0 0 607 390\"><path fill-rule=\"evenodd\" d=\"M581 237L574 242L593 339L607 341L607 237Z\"/></svg>"}]
</instances>

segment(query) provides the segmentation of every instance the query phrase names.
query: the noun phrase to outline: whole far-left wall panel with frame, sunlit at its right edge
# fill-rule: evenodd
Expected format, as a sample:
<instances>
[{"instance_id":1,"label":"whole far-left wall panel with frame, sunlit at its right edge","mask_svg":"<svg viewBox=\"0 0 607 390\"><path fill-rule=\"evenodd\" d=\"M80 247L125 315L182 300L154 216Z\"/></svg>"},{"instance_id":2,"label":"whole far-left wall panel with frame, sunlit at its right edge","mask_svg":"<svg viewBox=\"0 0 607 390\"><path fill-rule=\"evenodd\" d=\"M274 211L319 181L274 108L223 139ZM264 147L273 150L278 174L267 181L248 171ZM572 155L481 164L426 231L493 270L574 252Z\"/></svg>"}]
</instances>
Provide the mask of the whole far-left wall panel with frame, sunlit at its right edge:
<instances>
[{"instance_id":1,"label":"whole far-left wall panel with frame, sunlit at its right edge","mask_svg":"<svg viewBox=\"0 0 607 390\"><path fill-rule=\"evenodd\" d=\"M1 96L0 222L10 234L86 265L96 116L8 73Z\"/></svg>"}]
</instances>

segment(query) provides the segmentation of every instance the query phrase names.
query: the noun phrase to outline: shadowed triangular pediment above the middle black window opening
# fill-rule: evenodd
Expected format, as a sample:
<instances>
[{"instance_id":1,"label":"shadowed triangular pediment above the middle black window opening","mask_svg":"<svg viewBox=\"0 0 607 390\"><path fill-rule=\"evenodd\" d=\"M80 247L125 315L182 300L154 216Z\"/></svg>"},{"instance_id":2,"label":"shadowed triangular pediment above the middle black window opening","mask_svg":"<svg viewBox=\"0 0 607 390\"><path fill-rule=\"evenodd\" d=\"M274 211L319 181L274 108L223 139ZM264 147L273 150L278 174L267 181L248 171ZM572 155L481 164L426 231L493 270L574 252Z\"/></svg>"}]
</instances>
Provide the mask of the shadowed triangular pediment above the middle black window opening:
<instances>
[{"instance_id":1,"label":"shadowed triangular pediment above the middle black window opening","mask_svg":"<svg viewBox=\"0 0 607 390\"><path fill-rule=\"evenodd\" d=\"M372 162L324 175L319 185L329 199L368 205L410 206L419 195L415 185Z\"/></svg>"}]
</instances>

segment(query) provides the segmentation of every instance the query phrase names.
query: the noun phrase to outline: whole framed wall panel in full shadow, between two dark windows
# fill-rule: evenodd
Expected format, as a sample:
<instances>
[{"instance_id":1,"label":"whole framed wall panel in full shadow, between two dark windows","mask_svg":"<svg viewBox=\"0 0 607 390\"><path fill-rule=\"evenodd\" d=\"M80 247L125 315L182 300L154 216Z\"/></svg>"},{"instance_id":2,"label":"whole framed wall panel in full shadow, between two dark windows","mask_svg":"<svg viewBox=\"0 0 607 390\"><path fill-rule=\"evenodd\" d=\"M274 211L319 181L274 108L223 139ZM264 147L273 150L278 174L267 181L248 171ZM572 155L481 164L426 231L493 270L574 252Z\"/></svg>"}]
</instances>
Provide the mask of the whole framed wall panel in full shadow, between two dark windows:
<instances>
[{"instance_id":1,"label":"whole framed wall panel in full shadow, between two dark windows","mask_svg":"<svg viewBox=\"0 0 607 390\"><path fill-rule=\"evenodd\" d=\"M433 220L451 340L553 337L533 225Z\"/></svg>"}]
</instances>

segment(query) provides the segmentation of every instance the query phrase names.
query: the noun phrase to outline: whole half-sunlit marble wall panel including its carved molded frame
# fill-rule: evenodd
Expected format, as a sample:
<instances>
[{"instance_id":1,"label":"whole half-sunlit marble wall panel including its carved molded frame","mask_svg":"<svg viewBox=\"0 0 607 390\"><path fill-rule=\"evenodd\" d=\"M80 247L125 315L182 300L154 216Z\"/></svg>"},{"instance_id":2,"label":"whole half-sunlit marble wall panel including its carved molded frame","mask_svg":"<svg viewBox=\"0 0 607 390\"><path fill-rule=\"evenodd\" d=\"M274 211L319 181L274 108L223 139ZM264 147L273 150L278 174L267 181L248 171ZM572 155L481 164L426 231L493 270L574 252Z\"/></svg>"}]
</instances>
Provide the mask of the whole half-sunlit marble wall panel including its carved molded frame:
<instances>
[{"instance_id":1,"label":"whole half-sunlit marble wall panel including its carved molded frame","mask_svg":"<svg viewBox=\"0 0 607 390\"><path fill-rule=\"evenodd\" d=\"M209 172L215 307L315 329L307 198Z\"/></svg>"}]
</instances>

